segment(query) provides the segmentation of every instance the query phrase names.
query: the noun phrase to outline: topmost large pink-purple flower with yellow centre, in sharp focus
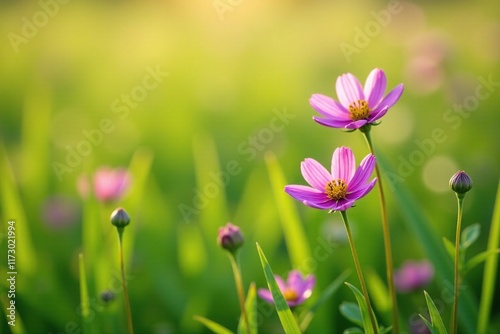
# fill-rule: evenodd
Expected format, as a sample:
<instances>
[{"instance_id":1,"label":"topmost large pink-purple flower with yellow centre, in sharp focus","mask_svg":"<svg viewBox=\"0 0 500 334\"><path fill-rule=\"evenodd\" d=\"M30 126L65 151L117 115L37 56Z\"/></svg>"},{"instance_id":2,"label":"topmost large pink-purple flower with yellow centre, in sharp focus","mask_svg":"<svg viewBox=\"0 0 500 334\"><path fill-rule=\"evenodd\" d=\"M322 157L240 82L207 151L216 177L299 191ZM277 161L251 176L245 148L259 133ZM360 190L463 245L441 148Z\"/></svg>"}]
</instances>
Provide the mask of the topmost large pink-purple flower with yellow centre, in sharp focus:
<instances>
[{"instance_id":1,"label":"topmost large pink-purple flower with yellow centre, in sharp focus","mask_svg":"<svg viewBox=\"0 0 500 334\"><path fill-rule=\"evenodd\" d=\"M311 106L325 117L314 116L313 119L321 125L350 130L374 123L403 93L404 86L399 84L384 97L386 84L385 73L378 68L370 72L364 88L354 75L343 74L336 83L339 102L326 95L313 94L309 100Z\"/></svg>"}]
</instances>

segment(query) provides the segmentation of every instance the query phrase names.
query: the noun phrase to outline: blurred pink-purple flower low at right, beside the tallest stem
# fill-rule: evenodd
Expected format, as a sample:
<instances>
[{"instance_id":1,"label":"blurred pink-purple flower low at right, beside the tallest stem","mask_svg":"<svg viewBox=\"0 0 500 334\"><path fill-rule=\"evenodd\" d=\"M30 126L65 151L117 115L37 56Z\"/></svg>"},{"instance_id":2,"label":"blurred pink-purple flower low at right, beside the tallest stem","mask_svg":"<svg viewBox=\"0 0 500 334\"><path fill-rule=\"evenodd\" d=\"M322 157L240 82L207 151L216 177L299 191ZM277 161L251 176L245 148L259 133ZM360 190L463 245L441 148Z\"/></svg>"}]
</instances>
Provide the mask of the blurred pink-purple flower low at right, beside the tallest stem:
<instances>
[{"instance_id":1,"label":"blurred pink-purple flower low at right, beside the tallest stem","mask_svg":"<svg viewBox=\"0 0 500 334\"><path fill-rule=\"evenodd\" d=\"M394 273L394 284L399 292L410 292L426 286L433 277L434 267L429 261L407 261Z\"/></svg>"}]
</instances>

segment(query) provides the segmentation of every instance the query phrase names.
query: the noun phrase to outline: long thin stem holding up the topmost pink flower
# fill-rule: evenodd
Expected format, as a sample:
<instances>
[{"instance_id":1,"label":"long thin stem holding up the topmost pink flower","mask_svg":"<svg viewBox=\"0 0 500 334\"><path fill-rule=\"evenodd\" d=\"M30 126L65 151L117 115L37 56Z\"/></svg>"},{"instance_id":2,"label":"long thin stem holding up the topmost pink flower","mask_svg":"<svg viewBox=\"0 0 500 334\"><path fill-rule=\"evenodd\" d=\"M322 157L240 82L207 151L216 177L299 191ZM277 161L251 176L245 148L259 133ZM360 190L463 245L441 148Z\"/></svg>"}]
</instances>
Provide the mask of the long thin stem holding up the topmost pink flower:
<instances>
[{"instance_id":1,"label":"long thin stem holding up the topmost pink flower","mask_svg":"<svg viewBox=\"0 0 500 334\"><path fill-rule=\"evenodd\" d=\"M375 150L373 149L369 128L368 131L362 133L365 136L366 143L370 148L371 154L375 155ZM391 234L389 231L389 219L387 218L387 208L385 204L384 189L382 187L382 178L380 175L380 169L378 168L378 163L375 164L375 174L377 175L378 190L380 194L380 210L382 214L382 233L384 235L387 285L389 287L389 294L391 295L391 301L392 301L392 330L393 333L399 333L398 300L396 297L396 289L394 286L394 265L392 264Z\"/></svg>"}]
</instances>

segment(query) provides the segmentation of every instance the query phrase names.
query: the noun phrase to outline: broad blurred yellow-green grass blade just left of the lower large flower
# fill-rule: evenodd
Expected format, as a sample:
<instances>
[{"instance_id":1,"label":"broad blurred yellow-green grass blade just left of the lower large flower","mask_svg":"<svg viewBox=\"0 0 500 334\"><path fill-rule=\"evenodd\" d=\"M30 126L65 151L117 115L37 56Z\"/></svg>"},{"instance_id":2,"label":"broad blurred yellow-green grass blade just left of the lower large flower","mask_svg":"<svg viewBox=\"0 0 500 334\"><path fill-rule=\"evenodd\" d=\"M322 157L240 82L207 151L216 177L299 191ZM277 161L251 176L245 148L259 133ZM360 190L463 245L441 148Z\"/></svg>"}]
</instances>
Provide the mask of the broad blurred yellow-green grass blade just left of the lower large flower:
<instances>
[{"instance_id":1,"label":"broad blurred yellow-green grass blade just left of the lower large flower","mask_svg":"<svg viewBox=\"0 0 500 334\"><path fill-rule=\"evenodd\" d=\"M306 261L312 257L309 242L300 223L299 214L293 200L283 190L286 180L278 160L272 153L267 153L265 160L292 267L302 268Z\"/></svg>"}]
</instances>

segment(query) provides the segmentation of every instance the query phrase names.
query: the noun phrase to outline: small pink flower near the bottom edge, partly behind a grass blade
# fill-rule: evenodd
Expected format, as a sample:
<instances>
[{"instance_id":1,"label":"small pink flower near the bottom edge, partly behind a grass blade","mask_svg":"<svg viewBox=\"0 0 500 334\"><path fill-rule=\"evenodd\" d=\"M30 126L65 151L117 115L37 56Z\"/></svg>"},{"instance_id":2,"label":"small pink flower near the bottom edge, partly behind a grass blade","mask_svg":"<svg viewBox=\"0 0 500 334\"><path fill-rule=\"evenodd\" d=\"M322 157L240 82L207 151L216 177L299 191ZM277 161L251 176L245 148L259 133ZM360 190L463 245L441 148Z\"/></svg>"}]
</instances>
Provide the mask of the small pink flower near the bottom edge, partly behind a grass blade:
<instances>
[{"instance_id":1,"label":"small pink flower near the bottom edge, partly behind a grass blade","mask_svg":"<svg viewBox=\"0 0 500 334\"><path fill-rule=\"evenodd\" d=\"M303 278L298 270L292 270L288 274L286 282L278 275L275 275L274 278L289 307L300 305L309 298L316 282L314 275ZM271 291L259 289L257 293L266 302L273 303Z\"/></svg>"}]
</instances>

